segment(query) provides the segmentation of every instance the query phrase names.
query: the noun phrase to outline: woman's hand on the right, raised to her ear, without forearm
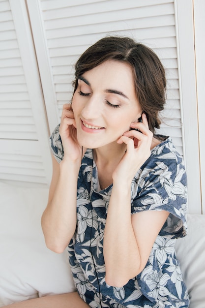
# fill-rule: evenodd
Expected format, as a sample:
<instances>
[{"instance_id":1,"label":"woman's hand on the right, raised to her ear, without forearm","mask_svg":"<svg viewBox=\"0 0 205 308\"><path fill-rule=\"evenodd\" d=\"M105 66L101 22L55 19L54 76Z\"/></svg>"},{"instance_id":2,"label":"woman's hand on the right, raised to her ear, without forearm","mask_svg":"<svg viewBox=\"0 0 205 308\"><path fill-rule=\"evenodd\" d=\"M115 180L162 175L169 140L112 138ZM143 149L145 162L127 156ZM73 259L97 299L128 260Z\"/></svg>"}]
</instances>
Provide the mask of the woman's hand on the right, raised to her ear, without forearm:
<instances>
[{"instance_id":1,"label":"woman's hand on the right, raised to her ear, without forearm","mask_svg":"<svg viewBox=\"0 0 205 308\"><path fill-rule=\"evenodd\" d=\"M127 150L113 173L113 181L115 182L120 181L121 183L123 181L123 183L131 184L136 172L150 156L153 133L149 130L145 113L142 115L142 120L142 122L132 123L131 130L125 132L117 140L119 144L125 143Z\"/></svg>"}]
</instances>

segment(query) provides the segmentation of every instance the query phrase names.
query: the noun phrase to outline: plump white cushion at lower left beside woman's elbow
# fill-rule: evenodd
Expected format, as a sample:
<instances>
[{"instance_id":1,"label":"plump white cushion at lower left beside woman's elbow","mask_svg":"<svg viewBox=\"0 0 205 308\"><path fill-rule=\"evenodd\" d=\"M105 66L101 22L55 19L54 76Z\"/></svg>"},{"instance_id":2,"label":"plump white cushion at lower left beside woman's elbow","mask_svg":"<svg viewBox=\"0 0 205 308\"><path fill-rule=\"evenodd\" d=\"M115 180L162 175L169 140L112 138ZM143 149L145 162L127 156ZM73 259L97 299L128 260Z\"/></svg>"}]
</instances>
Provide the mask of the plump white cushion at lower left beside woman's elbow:
<instances>
[{"instance_id":1,"label":"plump white cushion at lower left beside woman's elbow","mask_svg":"<svg viewBox=\"0 0 205 308\"><path fill-rule=\"evenodd\" d=\"M75 290L68 253L45 246L41 215L47 188L0 183L0 307Z\"/></svg>"}]
</instances>

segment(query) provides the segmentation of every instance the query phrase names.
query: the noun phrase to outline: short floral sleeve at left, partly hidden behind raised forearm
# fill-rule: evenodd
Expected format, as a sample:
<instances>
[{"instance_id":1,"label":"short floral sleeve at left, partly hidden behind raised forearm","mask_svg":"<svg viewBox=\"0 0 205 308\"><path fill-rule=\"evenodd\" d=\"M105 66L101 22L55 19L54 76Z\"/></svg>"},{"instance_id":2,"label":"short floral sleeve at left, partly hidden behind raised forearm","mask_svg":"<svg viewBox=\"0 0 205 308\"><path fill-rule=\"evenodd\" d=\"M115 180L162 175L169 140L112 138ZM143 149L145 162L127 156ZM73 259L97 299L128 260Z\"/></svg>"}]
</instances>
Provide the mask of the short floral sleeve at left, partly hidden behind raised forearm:
<instances>
[{"instance_id":1,"label":"short floral sleeve at left, partly hidden behind raised forearm","mask_svg":"<svg viewBox=\"0 0 205 308\"><path fill-rule=\"evenodd\" d=\"M60 138L59 126L60 124L56 126L49 140L51 145L51 151L54 154L56 160L60 163L61 160L63 160L64 151L63 151L62 141Z\"/></svg>"}]
</instances>

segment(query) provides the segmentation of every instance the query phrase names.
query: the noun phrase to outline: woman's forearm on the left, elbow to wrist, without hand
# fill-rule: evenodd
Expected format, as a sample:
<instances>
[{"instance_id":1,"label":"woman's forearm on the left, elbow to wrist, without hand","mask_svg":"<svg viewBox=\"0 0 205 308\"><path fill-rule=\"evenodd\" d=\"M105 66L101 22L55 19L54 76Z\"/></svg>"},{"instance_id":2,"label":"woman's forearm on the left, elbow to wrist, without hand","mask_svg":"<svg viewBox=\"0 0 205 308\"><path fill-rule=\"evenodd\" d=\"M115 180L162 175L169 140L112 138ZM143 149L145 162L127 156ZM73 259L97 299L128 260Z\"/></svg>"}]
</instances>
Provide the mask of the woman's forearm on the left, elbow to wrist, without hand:
<instances>
[{"instance_id":1,"label":"woman's forearm on the left, elbow to wrist, without hand","mask_svg":"<svg viewBox=\"0 0 205 308\"><path fill-rule=\"evenodd\" d=\"M41 224L48 248L62 252L76 229L76 194L79 165L53 157L53 177L48 205Z\"/></svg>"}]
</instances>

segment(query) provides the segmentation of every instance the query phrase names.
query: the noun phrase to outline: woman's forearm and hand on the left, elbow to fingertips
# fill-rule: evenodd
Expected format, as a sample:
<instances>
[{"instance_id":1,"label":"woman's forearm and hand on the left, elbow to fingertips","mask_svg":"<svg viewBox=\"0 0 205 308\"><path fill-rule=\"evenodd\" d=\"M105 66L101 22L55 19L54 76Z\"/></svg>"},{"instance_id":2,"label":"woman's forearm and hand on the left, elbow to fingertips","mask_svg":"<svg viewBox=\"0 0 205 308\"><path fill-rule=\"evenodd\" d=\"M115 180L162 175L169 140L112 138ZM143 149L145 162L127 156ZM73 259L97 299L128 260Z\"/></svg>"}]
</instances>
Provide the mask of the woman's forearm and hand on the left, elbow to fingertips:
<instances>
[{"instance_id":1,"label":"woman's forearm and hand on the left, elbow to fingertips","mask_svg":"<svg viewBox=\"0 0 205 308\"><path fill-rule=\"evenodd\" d=\"M49 200L42 216L46 245L55 252L65 249L76 229L77 180L83 149L77 141L75 119L69 104L63 105L59 132L64 157L60 164L53 157Z\"/></svg>"}]
</instances>

